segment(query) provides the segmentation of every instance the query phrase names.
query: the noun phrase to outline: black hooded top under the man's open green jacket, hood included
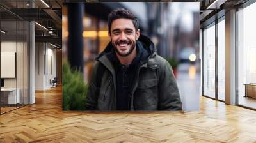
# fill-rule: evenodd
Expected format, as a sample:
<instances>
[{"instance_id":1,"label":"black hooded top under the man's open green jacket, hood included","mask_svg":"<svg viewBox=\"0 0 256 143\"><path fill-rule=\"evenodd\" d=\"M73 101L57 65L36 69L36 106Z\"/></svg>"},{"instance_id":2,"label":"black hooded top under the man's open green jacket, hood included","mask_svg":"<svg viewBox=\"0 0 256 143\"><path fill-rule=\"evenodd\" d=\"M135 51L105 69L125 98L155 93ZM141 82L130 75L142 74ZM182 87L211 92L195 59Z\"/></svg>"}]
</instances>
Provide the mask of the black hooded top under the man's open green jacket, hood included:
<instances>
[{"instance_id":1,"label":"black hooded top under the man's open green jacket, hood included","mask_svg":"<svg viewBox=\"0 0 256 143\"><path fill-rule=\"evenodd\" d=\"M129 105L131 101L129 101L129 95L131 94L132 85L134 84L136 71L141 64L147 62L150 55L154 52L154 45L149 38L141 35L138 41L136 41L136 50L136 57L129 66L120 63L111 42L109 42L104 52L99 56L101 57L106 54L115 68L117 110L130 110Z\"/></svg>"}]
</instances>

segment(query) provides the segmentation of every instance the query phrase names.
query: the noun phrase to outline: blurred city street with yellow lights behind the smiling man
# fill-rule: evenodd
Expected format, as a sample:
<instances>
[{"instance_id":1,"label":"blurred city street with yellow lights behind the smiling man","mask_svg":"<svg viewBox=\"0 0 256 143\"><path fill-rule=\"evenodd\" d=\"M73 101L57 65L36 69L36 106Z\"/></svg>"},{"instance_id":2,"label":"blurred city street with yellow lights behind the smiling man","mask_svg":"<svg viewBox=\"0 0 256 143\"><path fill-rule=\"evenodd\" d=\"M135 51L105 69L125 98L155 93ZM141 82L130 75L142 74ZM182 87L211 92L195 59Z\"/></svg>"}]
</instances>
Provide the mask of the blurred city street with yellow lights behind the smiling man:
<instances>
[{"instance_id":1,"label":"blurred city street with yellow lights behind the smiling man","mask_svg":"<svg viewBox=\"0 0 256 143\"><path fill-rule=\"evenodd\" d=\"M150 37L157 54L171 64L184 109L199 110L199 3L67 3L62 17L63 61L80 68L88 83L95 57L110 41L107 17L115 8L138 17L141 34Z\"/></svg>"}]
</instances>

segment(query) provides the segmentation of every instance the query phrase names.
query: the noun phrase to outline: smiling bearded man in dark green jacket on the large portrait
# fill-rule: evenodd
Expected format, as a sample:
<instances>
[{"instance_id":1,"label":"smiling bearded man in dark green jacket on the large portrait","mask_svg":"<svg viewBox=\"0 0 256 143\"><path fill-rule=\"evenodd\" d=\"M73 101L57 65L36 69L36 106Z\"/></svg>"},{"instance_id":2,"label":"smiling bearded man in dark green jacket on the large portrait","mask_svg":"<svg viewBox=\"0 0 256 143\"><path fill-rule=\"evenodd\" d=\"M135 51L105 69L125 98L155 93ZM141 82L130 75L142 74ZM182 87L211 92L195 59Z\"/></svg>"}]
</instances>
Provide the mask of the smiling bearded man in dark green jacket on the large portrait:
<instances>
[{"instance_id":1,"label":"smiling bearded man in dark green jacket on the large portrait","mask_svg":"<svg viewBox=\"0 0 256 143\"><path fill-rule=\"evenodd\" d=\"M172 67L140 34L131 11L108 15L111 40L93 67L87 110L182 110Z\"/></svg>"}]
</instances>

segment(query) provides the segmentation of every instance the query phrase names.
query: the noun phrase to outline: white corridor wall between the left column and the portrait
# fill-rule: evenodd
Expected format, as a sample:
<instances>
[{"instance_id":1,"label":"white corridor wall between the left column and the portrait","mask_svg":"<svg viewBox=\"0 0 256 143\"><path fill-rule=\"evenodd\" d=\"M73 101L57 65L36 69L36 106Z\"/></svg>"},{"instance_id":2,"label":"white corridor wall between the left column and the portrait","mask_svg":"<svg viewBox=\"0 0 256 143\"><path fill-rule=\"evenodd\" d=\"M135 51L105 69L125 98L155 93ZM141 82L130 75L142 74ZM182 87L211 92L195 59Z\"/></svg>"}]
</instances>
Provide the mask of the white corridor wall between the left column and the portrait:
<instances>
[{"instance_id":1,"label":"white corridor wall between the left column and the portrait","mask_svg":"<svg viewBox=\"0 0 256 143\"><path fill-rule=\"evenodd\" d=\"M36 43L36 90L51 88L50 79L56 77L56 49L53 48L49 43Z\"/></svg>"}]
</instances>

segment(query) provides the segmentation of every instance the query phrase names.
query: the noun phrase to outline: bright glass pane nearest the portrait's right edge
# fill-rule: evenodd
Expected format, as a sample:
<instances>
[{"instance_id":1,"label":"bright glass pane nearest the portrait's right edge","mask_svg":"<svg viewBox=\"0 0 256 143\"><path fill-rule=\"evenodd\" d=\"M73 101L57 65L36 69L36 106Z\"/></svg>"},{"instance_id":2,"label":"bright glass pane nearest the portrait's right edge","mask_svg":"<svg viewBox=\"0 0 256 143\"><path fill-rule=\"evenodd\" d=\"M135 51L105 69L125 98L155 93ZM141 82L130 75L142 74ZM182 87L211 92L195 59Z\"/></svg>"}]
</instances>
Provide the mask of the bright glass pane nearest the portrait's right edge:
<instances>
[{"instance_id":1,"label":"bright glass pane nearest the portrait's right edge","mask_svg":"<svg viewBox=\"0 0 256 143\"><path fill-rule=\"evenodd\" d=\"M204 29L204 57L204 95L215 98L215 25Z\"/></svg>"}]
</instances>

